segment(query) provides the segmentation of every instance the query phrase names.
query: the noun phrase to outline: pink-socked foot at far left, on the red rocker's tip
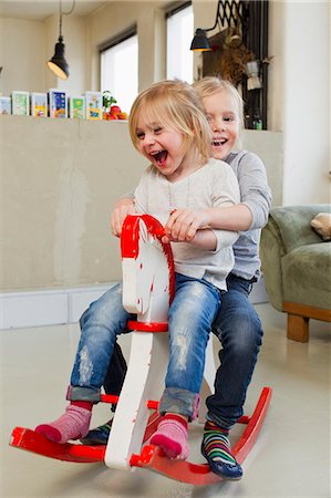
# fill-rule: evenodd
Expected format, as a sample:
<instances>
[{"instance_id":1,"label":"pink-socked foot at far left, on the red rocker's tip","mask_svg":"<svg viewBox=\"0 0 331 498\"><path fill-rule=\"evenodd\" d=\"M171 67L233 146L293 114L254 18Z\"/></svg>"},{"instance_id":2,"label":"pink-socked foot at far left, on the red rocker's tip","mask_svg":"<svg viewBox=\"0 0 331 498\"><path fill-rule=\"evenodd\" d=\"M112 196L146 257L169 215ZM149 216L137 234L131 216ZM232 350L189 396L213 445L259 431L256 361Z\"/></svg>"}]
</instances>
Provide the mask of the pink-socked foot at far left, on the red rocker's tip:
<instances>
[{"instance_id":1,"label":"pink-socked foot at far left, on the red rocker's tip","mask_svg":"<svg viewBox=\"0 0 331 498\"><path fill-rule=\"evenodd\" d=\"M65 414L50 424L35 427L38 434L43 434L54 443L66 443L69 439L79 439L89 433L92 412L76 405L69 405Z\"/></svg>"}]
</instances>

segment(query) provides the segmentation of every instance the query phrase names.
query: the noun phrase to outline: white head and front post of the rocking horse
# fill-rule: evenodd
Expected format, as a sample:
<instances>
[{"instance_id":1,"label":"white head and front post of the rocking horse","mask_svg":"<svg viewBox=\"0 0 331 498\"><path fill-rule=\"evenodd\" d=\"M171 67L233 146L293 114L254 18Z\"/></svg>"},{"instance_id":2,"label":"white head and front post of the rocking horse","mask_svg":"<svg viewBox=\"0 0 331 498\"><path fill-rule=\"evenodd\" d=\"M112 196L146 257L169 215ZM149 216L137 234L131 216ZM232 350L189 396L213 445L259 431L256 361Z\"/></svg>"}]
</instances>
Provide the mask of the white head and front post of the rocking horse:
<instances>
[{"instance_id":1,"label":"white head and front post of the rocking horse","mask_svg":"<svg viewBox=\"0 0 331 498\"><path fill-rule=\"evenodd\" d=\"M147 228L151 219L134 215L125 221L121 240L123 305L137 314L137 322L166 322L173 268L155 231L162 227L149 224ZM133 332L128 367L105 453L108 467L134 468L130 458L141 453L149 417L147 402L158 401L162 395L167 359L166 333Z\"/></svg>"}]
</instances>

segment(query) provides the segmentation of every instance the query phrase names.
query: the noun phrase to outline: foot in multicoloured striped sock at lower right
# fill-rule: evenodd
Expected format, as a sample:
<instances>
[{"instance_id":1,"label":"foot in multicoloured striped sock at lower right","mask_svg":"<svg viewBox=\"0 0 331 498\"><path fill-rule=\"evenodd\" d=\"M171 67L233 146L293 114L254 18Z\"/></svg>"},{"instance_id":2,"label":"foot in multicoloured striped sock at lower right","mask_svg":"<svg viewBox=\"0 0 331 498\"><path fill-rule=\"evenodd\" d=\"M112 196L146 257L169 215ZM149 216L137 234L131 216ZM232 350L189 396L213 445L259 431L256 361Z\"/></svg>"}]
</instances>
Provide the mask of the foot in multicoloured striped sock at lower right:
<instances>
[{"instance_id":1,"label":"foot in multicoloured striped sock at lower right","mask_svg":"<svg viewBox=\"0 0 331 498\"><path fill-rule=\"evenodd\" d=\"M237 480L242 477L242 469L231 454L228 434L228 429L214 422L206 422L201 453L214 474L224 479Z\"/></svg>"}]
</instances>

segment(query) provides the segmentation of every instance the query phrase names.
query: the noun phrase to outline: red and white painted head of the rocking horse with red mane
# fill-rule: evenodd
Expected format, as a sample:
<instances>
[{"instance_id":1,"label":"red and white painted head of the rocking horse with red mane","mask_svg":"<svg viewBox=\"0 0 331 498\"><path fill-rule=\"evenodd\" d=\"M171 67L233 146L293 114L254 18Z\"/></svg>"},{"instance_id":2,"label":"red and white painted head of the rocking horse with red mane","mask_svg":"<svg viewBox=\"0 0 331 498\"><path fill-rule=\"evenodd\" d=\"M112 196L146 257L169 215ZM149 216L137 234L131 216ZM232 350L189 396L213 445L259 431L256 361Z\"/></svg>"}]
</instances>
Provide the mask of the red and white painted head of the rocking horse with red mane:
<instances>
[{"instance_id":1,"label":"red and white painted head of the rocking horse with red mane","mask_svg":"<svg viewBox=\"0 0 331 498\"><path fill-rule=\"evenodd\" d=\"M122 227L123 305L143 322L165 322L175 293L174 260L164 228L149 215L128 215Z\"/></svg>"}]
</instances>

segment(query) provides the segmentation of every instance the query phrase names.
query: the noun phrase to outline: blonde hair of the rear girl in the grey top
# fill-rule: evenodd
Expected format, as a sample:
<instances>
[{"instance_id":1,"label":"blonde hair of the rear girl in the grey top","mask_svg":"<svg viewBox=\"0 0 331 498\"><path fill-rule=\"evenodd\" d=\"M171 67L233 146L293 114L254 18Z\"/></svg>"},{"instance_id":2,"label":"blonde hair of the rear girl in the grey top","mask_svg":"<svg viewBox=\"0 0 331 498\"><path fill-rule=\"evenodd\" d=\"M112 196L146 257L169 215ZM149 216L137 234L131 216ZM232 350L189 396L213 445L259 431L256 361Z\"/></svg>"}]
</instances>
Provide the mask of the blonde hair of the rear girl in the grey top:
<instances>
[{"instance_id":1,"label":"blonde hair of the rear girl in the grey top","mask_svg":"<svg viewBox=\"0 0 331 498\"><path fill-rule=\"evenodd\" d=\"M193 86L201 101L205 97L214 95L215 93L221 91L229 92L238 107L240 128L244 128L244 101L240 93L238 92L236 86L232 85L232 83L227 80L221 80L221 77L218 76L205 76L201 80L195 82Z\"/></svg>"}]
</instances>

